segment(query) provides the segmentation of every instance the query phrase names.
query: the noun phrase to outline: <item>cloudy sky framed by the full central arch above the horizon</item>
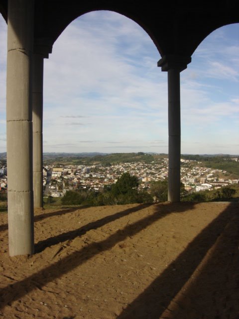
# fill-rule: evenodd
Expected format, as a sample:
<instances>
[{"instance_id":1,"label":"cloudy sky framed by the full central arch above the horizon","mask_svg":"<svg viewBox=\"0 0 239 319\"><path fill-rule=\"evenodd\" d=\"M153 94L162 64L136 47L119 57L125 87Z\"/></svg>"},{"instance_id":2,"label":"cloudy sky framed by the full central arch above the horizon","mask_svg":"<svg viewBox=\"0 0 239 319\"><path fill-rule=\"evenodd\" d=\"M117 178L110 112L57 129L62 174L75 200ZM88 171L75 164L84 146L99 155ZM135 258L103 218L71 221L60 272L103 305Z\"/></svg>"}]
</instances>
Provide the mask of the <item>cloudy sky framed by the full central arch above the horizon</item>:
<instances>
[{"instance_id":1,"label":"cloudy sky framed by the full central arch above the horizon","mask_svg":"<svg viewBox=\"0 0 239 319\"><path fill-rule=\"evenodd\" d=\"M44 64L44 151L167 153L158 58L125 16L94 11L74 20Z\"/></svg>"}]
</instances>

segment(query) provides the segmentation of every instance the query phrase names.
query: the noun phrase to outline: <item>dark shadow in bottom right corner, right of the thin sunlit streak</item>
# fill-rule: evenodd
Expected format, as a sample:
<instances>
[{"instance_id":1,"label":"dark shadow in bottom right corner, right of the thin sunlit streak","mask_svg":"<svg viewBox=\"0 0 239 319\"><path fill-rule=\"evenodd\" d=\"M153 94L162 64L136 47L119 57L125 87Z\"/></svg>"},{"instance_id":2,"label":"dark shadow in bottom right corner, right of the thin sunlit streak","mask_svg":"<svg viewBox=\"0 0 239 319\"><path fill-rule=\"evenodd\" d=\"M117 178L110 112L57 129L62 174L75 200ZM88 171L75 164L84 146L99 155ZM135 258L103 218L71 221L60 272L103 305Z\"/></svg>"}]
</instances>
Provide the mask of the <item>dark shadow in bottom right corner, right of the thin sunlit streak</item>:
<instances>
[{"instance_id":1,"label":"dark shadow in bottom right corner, right of the thin sunlit streak","mask_svg":"<svg viewBox=\"0 0 239 319\"><path fill-rule=\"evenodd\" d=\"M185 290L171 301L170 318L239 319L238 246L239 216L236 216L227 224Z\"/></svg>"}]
</instances>

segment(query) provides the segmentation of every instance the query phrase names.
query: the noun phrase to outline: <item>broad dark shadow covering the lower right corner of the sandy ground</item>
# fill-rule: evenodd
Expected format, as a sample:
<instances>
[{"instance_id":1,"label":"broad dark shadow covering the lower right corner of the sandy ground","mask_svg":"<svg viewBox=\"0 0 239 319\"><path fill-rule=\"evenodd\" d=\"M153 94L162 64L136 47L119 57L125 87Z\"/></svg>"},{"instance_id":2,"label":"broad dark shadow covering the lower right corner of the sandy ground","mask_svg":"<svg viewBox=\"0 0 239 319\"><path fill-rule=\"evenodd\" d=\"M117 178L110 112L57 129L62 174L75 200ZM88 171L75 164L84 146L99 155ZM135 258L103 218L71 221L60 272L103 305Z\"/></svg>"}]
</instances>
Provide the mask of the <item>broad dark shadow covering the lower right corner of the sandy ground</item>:
<instances>
[{"instance_id":1,"label":"broad dark shadow covering the lower right corner of the sandy ground","mask_svg":"<svg viewBox=\"0 0 239 319\"><path fill-rule=\"evenodd\" d=\"M231 203L118 319L239 319L239 217L232 219L238 207ZM182 290L216 241L197 279Z\"/></svg>"}]
</instances>

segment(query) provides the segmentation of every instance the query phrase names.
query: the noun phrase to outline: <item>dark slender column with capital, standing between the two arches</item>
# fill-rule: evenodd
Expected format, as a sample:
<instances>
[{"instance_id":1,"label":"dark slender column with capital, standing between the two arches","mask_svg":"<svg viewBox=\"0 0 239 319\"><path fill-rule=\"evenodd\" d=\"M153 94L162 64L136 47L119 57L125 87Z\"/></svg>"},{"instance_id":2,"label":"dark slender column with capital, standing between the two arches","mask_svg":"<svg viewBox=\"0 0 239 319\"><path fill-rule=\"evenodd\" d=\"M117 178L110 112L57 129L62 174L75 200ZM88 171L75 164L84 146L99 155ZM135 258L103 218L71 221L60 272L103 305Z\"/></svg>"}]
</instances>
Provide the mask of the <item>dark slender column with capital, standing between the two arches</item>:
<instances>
[{"instance_id":1,"label":"dark slender column with capital, standing between the two arches","mask_svg":"<svg viewBox=\"0 0 239 319\"><path fill-rule=\"evenodd\" d=\"M168 201L180 201L180 72L191 58L167 55L158 61L162 71L168 72Z\"/></svg>"}]
</instances>

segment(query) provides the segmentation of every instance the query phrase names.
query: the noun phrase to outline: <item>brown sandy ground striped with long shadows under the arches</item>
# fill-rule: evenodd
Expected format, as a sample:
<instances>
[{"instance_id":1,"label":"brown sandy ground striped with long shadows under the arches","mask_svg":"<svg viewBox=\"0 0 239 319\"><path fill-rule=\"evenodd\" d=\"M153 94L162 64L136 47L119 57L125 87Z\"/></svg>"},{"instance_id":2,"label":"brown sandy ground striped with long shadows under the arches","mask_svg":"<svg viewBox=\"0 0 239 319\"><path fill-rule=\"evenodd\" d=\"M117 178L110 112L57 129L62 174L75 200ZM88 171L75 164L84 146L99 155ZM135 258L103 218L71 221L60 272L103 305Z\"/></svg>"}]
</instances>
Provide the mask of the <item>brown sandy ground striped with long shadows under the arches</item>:
<instances>
[{"instance_id":1,"label":"brown sandy ground striped with long shadows under the arches","mask_svg":"<svg viewBox=\"0 0 239 319\"><path fill-rule=\"evenodd\" d=\"M29 257L0 234L0 318L239 319L239 203L38 210Z\"/></svg>"}]
</instances>

